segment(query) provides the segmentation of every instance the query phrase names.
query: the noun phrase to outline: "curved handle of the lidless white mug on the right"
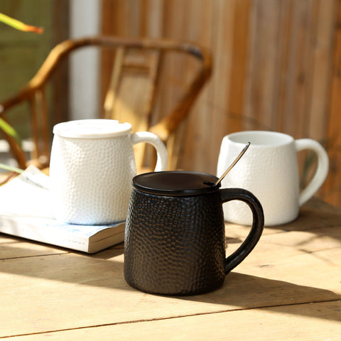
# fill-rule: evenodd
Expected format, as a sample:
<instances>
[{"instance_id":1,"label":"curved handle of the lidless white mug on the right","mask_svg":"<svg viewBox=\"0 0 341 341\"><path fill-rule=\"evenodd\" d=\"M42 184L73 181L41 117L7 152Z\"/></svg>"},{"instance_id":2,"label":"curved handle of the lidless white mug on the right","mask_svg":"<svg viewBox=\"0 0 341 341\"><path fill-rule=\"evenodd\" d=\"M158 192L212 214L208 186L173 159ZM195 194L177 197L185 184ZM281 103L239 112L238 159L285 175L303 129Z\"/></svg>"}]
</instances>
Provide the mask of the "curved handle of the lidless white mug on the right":
<instances>
[{"instance_id":1,"label":"curved handle of the lidless white mug on the right","mask_svg":"<svg viewBox=\"0 0 341 341\"><path fill-rule=\"evenodd\" d=\"M329 159L325 148L321 146L318 141L312 139L298 139L295 140L296 151L302 151L303 149L310 149L318 156L318 168L315 171L313 178L308 183L307 187L304 188L299 197L299 205L303 205L307 202L310 197L318 191L320 186L325 181L328 175Z\"/></svg>"}]
</instances>

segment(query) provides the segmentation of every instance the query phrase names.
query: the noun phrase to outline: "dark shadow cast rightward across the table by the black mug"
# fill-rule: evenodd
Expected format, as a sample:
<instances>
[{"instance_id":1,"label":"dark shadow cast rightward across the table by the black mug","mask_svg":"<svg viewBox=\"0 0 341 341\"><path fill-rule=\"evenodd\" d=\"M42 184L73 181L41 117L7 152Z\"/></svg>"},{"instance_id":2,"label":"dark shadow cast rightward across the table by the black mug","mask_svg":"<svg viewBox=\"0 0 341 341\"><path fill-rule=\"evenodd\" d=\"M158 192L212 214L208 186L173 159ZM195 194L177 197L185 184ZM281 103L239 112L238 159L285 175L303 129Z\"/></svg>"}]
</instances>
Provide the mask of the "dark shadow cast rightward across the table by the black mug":
<instances>
[{"instance_id":1,"label":"dark shadow cast rightward across the table by the black mug","mask_svg":"<svg viewBox=\"0 0 341 341\"><path fill-rule=\"evenodd\" d=\"M340 306L331 315L321 314L318 308L306 308L306 303L325 303L341 300L341 296L332 291L310 286L300 286L286 281L261 278L248 274L232 272L227 275L224 285L212 291L196 296L180 296L184 301L205 302L219 305L233 305L234 309L248 310L261 308L270 311L284 310L285 313L306 315L328 320L341 320ZM302 308L298 308L302 305ZM225 311L225 310L224 310Z\"/></svg>"}]
</instances>

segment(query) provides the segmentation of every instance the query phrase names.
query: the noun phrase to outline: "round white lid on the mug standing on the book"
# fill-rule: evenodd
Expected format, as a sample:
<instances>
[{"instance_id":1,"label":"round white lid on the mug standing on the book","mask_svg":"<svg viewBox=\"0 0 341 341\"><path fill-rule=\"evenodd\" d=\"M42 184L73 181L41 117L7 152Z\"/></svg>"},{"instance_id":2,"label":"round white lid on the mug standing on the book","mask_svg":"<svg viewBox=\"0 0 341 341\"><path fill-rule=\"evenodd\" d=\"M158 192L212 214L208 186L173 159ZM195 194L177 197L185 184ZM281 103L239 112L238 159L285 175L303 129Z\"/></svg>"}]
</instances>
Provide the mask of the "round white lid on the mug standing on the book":
<instances>
[{"instance_id":1,"label":"round white lid on the mug standing on the book","mask_svg":"<svg viewBox=\"0 0 341 341\"><path fill-rule=\"evenodd\" d=\"M105 139L129 134L130 123L114 119L79 119L56 124L53 134L70 139Z\"/></svg>"}]
</instances>

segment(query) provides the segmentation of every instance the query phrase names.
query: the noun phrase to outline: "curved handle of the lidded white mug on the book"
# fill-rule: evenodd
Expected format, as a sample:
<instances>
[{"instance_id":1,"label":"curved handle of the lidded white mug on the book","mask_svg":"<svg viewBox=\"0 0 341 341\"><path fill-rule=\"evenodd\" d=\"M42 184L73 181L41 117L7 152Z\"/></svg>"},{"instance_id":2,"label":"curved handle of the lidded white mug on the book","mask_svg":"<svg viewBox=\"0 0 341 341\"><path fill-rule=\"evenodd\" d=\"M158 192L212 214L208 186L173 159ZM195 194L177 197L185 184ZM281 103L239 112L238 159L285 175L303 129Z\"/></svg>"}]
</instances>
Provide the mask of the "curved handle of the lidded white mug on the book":
<instances>
[{"instance_id":1,"label":"curved handle of the lidded white mug on the book","mask_svg":"<svg viewBox=\"0 0 341 341\"><path fill-rule=\"evenodd\" d=\"M163 144L163 141L156 136L156 134L149 131L138 131L137 133L131 134L131 142L132 144L146 142L156 148L157 159L154 171L166 171L168 163L166 146Z\"/></svg>"}]
</instances>

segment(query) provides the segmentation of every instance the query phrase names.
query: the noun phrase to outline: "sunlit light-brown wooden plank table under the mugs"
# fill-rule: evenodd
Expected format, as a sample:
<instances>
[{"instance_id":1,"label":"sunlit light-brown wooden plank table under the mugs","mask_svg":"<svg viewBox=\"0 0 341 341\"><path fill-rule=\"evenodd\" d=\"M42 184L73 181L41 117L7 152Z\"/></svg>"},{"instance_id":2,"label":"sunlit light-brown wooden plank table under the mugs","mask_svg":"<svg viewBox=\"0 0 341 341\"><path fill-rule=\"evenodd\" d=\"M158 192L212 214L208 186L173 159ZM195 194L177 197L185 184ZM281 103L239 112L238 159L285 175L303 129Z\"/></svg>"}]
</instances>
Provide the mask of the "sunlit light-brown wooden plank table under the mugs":
<instances>
[{"instance_id":1,"label":"sunlit light-brown wooden plank table under the mugs","mask_svg":"<svg viewBox=\"0 0 341 341\"><path fill-rule=\"evenodd\" d=\"M227 224L227 253L247 232ZM0 338L341 340L341 209L320 200L266 228L212 293L136 291L123 253L123 244L90 256L0 234Z\"/></svg>"}]
</instances>

